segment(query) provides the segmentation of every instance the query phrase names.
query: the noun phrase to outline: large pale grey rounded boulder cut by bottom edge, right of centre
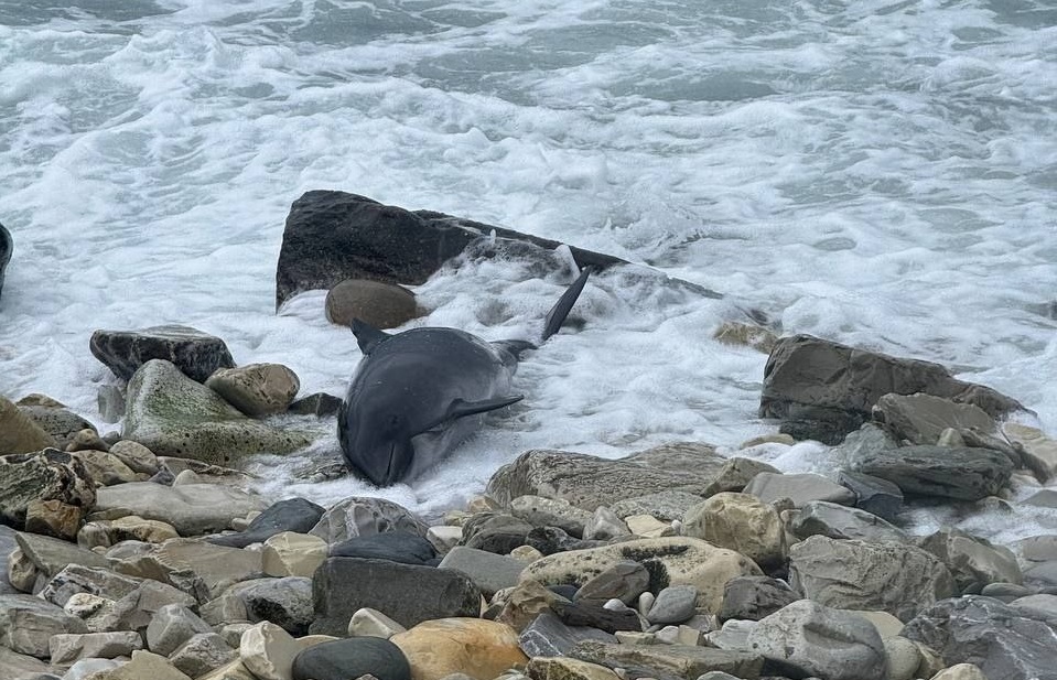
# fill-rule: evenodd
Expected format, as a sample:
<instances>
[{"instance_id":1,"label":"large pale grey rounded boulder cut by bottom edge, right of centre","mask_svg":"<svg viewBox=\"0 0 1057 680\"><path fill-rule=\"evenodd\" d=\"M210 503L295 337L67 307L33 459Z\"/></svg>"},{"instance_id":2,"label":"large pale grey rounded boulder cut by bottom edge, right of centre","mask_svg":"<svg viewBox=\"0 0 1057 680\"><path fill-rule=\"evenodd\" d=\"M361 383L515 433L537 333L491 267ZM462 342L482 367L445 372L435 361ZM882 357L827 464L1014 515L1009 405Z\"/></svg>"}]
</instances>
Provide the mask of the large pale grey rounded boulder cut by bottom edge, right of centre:
<instances>
[{"instance_id":1,"label":"large pale grey rounded boulder cut by bottom edge, right of centre","mask_svg":"<svg viewBox=\"0 0 1057 680\"><path fill-rule=\"evenodd\" d=\"M873 624L808 600L761 619L749 647L784 673L827 680L884 680L884 644Z\"/></svg>"}]
</instances>

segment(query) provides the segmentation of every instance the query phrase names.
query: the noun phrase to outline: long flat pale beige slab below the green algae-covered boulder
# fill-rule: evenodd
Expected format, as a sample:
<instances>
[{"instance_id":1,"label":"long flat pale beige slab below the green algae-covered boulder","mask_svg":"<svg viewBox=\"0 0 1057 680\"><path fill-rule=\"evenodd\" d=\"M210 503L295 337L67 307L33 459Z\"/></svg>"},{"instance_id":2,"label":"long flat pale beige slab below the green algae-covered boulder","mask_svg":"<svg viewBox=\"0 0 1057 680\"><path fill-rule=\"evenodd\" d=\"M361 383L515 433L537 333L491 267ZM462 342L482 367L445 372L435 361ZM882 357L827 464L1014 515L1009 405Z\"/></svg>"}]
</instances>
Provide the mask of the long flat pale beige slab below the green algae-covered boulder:
<instances>
[{"instance_id":1,"label":"long flat pale beige slab below the green algae-covered boulder","mask_svg":"<svg viewBox=\"0 0 1057 680\"><path fill-rule=\"evenodd\" d=\"M181 536L197 536L226 529L236 517L265 509L256 494L219 484L162 486L132 482L100 488L96 511L128 510L143 519L171 525Z\"/></svg>"}]
</instances>

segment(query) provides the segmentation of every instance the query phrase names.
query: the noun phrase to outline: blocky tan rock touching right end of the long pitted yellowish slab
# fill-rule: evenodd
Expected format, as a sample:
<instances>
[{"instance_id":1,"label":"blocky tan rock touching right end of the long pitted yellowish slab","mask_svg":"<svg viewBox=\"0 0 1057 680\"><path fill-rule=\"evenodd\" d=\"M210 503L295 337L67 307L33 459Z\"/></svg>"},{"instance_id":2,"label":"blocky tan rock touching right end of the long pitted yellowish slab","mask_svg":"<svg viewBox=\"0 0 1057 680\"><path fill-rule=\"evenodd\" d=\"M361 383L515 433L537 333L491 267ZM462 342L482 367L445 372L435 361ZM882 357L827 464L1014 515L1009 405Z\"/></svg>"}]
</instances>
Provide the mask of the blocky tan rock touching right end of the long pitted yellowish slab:
<instances>
[{"instance_id":1,"label":"blocky tan rock touching right end of the long pitted yellowish slab","mask_svg":"<svg viewBox=\"0 0 1057 680\"><path fill-rule=\"evenodd\" d=\"M700 538L770 565L785 557L785 533L775 508L748 494L724 492L690 508L683 536Z\"/></svg>"}]
</instances>

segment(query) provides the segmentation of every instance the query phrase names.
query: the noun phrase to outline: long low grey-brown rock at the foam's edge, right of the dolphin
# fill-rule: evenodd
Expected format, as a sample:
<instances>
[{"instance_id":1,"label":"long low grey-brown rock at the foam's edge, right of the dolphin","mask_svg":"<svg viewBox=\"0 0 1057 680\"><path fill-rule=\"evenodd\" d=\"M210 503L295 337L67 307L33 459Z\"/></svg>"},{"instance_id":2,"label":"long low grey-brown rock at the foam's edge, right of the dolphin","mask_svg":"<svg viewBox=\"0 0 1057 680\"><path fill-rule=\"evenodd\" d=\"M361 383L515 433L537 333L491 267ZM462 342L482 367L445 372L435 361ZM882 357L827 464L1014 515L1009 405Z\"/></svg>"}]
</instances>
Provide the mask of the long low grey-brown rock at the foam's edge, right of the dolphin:
<instances>
[{"instance_id":1,"label":"long low grey-brown rock at the foam's edge, right of the dolphin","mask_svg":"<svg viewBox=\"0 0 1057 680\"><path fill-rule=\"evenodd\" d=\"M698 496L715 479L726 458L710 447L682 455L641 452L612 461L565 451L528 451L500 467L487 494L509 504L524 495L560 498L584 510L662 490Z\"/></svg>"}]
</instances>

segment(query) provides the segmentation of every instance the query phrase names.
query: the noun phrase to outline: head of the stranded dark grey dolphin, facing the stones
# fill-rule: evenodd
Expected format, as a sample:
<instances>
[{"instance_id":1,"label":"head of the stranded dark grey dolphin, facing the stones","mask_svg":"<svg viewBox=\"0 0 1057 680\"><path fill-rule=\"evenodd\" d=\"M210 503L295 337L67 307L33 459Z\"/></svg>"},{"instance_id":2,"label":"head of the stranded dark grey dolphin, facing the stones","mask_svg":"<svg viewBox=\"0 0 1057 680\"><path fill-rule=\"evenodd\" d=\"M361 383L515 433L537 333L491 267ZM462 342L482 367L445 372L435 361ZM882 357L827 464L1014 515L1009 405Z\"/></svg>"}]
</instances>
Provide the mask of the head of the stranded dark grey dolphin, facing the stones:
<instances>
[{"instance_id":1,"label":"head of the stranded dark grey dolphin, facing the stones","mask_svg":"<svg viewBox=\"0 0 1057 680\"><path fill-rule=\"evenodd\" d=\"M338 434L348 468L378 486L403 479L414 461L413 433L401 413L342 409Z\"/></svg>"}]
</instances>

